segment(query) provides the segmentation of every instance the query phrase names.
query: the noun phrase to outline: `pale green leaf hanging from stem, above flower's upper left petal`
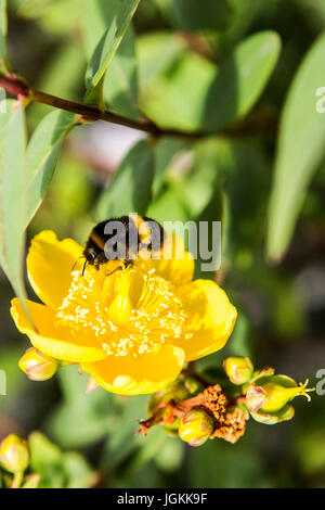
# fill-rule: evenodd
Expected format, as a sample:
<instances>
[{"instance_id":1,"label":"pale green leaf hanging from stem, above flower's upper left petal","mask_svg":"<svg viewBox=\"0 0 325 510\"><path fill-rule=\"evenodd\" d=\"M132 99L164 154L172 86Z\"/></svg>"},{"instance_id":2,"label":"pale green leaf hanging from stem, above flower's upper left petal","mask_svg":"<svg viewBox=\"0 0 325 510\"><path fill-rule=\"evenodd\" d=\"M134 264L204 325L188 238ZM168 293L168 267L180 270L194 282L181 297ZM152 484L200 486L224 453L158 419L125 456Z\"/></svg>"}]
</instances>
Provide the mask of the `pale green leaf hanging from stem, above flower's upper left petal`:
<instances>
[{"instance_id":1,"label":"pale green leaf hanging from stem, above flower's upper left petal","mask_svg":"<svg viewBox=\"0 0 325 510\"><path fill-rule=\"evenodd\" d=\"M27 225L48 191L62 142L75 120L75 114L56 110L49 113L32 133L26 155Z\"/></svg>"}]
</instances>

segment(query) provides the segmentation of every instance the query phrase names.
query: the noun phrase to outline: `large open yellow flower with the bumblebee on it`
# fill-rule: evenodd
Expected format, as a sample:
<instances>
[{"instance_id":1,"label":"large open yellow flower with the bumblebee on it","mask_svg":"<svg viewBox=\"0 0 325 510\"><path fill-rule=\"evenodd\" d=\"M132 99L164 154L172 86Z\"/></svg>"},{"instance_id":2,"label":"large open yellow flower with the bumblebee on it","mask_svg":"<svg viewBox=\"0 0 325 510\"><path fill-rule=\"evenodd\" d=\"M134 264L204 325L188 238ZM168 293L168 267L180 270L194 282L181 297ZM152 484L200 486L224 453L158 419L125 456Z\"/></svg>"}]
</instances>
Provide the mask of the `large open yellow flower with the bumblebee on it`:
<instances>
[{"instance_id":1,"label":"large open yellow flower with the bumblebee on it","mask_svg":"<svg viewBox=\"0 0 325 510\"><path fill-rule=\"evenodd\" d=\"M186 361L226 343L236 309L210 280L192 281L194 260L170 237L172 259L136 262L107 276L82 262L82 247L46 230L36 235L27 272L44 303L27 301L35 329L18 298L12 317L34 347L80 364L104 388L123 395L153 393L173 381ZM176 258L179 250L183 258Z\"/></svg>"}]
</instances>

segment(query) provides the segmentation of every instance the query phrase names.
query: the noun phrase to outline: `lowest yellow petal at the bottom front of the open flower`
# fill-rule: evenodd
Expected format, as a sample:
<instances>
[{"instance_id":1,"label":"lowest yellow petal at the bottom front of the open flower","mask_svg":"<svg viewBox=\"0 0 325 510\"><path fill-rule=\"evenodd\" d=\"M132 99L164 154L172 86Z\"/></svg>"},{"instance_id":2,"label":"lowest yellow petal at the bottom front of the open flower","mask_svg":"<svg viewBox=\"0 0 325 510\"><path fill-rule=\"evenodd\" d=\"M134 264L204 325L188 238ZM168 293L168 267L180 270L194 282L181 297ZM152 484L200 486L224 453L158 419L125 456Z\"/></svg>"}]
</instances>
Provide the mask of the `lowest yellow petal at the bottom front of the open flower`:
<instances>
[{"instance_id":1,"label":"lowest yellow petal at the bottom front of the open flower","mask_svg":"<svg viewBox=\"0 0 325 510\"><path fill-rule=\"evenodd\" d=\"M184 352L164 345L158 352L133 356L108 356L94 364L81 364L105 390L119 395L154 393L172 382L184 365Z\"/></svg>"}]
</instances>

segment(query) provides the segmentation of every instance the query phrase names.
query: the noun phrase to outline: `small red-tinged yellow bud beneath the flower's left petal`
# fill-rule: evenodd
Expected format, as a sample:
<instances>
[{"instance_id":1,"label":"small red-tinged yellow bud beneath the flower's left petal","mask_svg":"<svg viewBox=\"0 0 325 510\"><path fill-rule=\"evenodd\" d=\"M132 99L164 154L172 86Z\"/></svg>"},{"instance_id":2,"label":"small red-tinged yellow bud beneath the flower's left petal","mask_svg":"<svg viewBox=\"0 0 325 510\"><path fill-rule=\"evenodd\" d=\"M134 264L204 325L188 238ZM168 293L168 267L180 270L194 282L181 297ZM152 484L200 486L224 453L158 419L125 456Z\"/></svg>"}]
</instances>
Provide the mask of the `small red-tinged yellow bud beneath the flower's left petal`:
<instances>
[{"instance_id":1,"label":"small red-tinged yellow bud beneath the flower's left petal","mask_svg":"<svg viewBox=\"0 0 325 510\"><path fill-rule=\"evenodd\" d=\"M57 372L60 364L56 359L30 347L20 359L18 366L31 381L47 381Z\"/></svg>"}]
</instances>

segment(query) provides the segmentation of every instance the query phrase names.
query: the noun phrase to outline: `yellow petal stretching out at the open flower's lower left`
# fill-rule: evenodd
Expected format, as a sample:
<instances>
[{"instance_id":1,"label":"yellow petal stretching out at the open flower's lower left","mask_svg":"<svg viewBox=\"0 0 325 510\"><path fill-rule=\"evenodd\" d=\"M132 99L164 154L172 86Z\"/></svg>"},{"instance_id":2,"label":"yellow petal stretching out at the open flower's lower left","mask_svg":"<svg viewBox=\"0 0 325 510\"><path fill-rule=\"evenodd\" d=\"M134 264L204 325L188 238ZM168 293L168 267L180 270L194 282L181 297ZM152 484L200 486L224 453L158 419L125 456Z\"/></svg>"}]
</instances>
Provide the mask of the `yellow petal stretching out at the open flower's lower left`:
<instances>
[{"instance_id":1,"label":"yellow petal stretching out at the open flower's lower left","mask_svg":"<svg viewBox=\"0 0 325 510\"><path fill-rule=\"evenodd\" d=\"M70 362L98 361L105 358L102 346L95 339L84 333L73 335L64 326L57 326L57 319L51 308L26 299L37 332L28 321L21 301L12 299L11 315L18 330L27 334L31 344L52 358Z\"/></svg>"}]
</instances>

